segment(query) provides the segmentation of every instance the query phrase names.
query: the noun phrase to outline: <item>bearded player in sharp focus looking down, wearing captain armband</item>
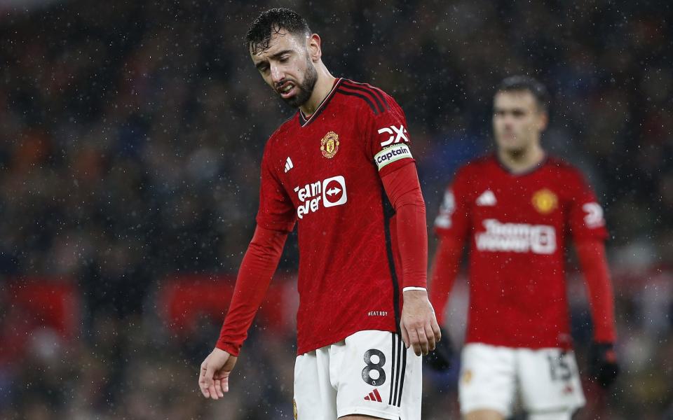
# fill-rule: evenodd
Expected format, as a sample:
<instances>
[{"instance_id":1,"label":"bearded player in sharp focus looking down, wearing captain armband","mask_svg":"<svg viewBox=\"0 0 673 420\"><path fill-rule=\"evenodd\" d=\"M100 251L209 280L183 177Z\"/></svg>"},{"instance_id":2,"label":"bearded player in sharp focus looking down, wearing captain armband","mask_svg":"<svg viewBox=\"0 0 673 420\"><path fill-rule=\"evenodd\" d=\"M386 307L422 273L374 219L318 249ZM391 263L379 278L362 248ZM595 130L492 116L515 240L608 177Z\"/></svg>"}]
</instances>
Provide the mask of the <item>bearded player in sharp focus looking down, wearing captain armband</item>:
<instances>
[{"instance_id":1,"label":"bearded player in sharp focus looking down, wearing captain armband","mask_svg":"<svg viewBox=\"0 0 673 420\"><path fill-rule=\"evenodd\" d=\"M426 292L425 204L405 115L382 90L335 78L292 10L261 13L252 62L298 108L268 139L257 228L199 387L217 400L299 230L295 418L421 418L421 353L440 339Z\"/></svg>"}]
</instances>

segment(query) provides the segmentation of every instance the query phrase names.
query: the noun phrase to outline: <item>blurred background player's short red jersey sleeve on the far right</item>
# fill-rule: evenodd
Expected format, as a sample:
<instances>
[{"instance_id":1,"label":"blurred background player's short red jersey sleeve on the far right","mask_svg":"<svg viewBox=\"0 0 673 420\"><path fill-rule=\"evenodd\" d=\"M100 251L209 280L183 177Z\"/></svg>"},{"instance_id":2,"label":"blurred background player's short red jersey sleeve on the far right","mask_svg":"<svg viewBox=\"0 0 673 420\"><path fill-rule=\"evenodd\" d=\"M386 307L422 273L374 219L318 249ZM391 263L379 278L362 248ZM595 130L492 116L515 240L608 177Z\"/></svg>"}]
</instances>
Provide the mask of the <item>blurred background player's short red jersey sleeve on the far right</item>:
<instances>
[{"instance_id":1,"label":"blurred background player's short red jersey sleeve on the far right","mask_svg":"<svg viewBox=\"0 0 673 420\"><path fill-rule=\"evenodd\" d=\"M604 240L608 231L603 217L603 208L596 200L593 190L579 174L573 174L571 181L570 231L575 241L586 239Z\"/></svg>"}]
</instances>

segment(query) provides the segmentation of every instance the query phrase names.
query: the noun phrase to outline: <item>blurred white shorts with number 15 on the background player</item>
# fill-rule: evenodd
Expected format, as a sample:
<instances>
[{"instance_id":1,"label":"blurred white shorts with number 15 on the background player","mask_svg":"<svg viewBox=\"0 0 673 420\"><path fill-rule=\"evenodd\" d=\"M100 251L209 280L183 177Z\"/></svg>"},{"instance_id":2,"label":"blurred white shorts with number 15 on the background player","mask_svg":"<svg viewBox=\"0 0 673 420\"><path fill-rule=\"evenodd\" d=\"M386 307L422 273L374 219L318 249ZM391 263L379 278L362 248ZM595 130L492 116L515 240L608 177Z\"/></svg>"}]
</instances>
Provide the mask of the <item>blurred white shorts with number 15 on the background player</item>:
<instances>
[{"instance_id":1,"label":"blurred white shorts with number 15 on the background player","mask_svg":"<svg viewBox=\"0 0 673 420\"><path fill-rule=\"evenodd\" d=\"M570 418L585 404L575 353L470 343L461 354L461 413L494 409L512 415L517 397L529 415Z\"/></svg>"}]
</instances>

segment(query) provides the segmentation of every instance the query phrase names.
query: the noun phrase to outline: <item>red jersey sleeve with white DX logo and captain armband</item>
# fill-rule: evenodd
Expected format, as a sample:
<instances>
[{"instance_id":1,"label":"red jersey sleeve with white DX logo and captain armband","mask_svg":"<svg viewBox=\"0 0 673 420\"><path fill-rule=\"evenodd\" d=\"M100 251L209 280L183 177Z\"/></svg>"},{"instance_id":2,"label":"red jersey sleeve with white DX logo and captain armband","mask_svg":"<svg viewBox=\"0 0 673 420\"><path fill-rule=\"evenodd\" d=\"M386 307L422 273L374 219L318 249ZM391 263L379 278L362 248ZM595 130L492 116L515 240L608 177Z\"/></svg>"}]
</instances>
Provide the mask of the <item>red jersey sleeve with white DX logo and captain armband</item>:
<instances>
[{"instance_id":1,"label":"red jersey sleeve with white DX logo and captain armband","mask_svg":"<svg viewBox=\"0 0 673 420\"><path fill-rule=\"evenodd\" d=\"M374 162L379 176L383 177L414 162L414 158L409 149L404 111L388 94L374 90L379 101L367 118L367 158Z\"/></svg>"}]
</instances>

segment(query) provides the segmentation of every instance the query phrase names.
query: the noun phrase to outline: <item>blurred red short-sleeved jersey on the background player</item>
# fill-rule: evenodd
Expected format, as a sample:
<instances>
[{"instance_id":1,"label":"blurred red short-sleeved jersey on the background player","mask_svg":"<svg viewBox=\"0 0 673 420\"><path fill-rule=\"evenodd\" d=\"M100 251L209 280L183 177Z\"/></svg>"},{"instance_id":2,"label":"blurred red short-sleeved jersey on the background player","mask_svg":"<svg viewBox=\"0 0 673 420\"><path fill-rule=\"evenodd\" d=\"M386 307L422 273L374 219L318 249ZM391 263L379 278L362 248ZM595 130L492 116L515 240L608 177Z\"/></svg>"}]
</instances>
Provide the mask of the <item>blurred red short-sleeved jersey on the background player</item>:
<instances>
[{"instance_id":1,"label":"blurred red short-sleeved jersey on the background player","mask_svg":"<svg viewBox=\"0 0 673 420\"><path fill-rule=\"evenodd\" d=\"M604 239L603 211L582 174L547 158L512 174L495 156L461 167L444 195L437 235L470 237L466 342L571 346L566 239Z\"/></svg>"}]
</instances>

